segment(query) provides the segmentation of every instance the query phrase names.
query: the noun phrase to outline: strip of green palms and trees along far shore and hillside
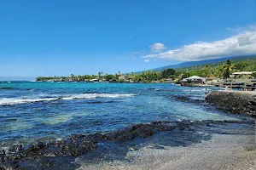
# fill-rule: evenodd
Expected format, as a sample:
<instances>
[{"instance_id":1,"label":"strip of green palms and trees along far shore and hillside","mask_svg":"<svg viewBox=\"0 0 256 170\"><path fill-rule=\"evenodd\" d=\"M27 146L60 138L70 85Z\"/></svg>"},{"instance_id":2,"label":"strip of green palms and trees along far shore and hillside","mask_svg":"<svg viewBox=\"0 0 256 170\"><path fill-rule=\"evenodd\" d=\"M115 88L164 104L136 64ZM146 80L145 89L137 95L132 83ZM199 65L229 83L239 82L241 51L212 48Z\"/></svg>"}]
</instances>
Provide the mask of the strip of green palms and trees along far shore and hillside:
<instances>
[{"instance_id":1,"label":"strip of green palms and trees along far shore and hillside","mask_svg":"<svg viewBox=\"0 0 256 170\"><path fill-rule=\"evenodd\" d=\"M230 78L230 74L236 71L256 71L256 57L247 57L240 59L229 59L226 61L216 62L207 65L195 65L186 68L172 69L168 68L164 71L146 71L139 74L131 72L131 74L104 74L102 71L98 75L84 75L70 77L37 77L37 81L61 81L61 82L166 82L178 81L185 77L218 77L222 79ZM253 73L252 77L256 77Z\"/></svg>"}]
</instances>

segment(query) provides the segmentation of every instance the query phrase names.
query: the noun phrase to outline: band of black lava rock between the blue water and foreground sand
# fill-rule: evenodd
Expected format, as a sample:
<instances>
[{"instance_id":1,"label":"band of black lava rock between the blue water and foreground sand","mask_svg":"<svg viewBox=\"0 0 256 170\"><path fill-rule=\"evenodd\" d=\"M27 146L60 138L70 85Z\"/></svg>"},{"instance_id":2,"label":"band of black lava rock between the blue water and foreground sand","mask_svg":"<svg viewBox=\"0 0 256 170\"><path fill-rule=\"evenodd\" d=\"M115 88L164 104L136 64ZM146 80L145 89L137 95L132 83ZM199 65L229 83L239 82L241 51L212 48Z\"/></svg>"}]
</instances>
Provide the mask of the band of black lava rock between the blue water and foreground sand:
<instances>
[{"instance_id":1,"label":"band of black lava rock between the blue water and foreground sand","mask_svg":"<svg viewBox=\"0 0 256 170\"><path fill-rule=\"evenodd\" d=\"M172 131L173 129L186 130L201 126L224 125L227 123L253 124L253 120L241 121L174 121L149 122L127 127L123 130L109 133L78 134L52 143L38 142L26 146L14 145L12 149L0 150L0 170L5 169L75 169L67 168L68 161L74 161L90 150L96 150L98 143L123 142L136 138L147 138L155 133ZM62 167L61 167L62 166ZM76 166L76 165L73 165ZM56 167L56 168L55 168ZM57 168L58 167L58 168Z\"/></svg>"}]
</instances>

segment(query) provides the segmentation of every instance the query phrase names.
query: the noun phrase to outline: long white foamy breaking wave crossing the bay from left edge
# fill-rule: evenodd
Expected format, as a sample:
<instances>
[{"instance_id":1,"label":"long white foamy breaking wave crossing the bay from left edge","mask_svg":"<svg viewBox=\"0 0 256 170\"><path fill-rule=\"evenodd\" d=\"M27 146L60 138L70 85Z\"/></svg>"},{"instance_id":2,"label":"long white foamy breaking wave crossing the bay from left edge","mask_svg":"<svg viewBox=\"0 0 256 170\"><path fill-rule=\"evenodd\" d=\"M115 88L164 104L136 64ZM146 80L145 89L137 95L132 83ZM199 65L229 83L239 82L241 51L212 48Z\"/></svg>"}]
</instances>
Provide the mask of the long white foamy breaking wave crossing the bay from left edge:
<instances>
[{"instance_id":1,"label":"long white foamy breaking wave crossing the bay from left edge","mask_svg":"<svg viewBox=\"0 0 256 170\"><path fill-rule=\"evenodd\" d=\"M53 100L72 100L72 99L96 99L96 98L123 98L135 96L135 94L73 94L69 96L59 96L52 98L39 98L39 99L20 99L20 98L2 98L0 99L0 105L18 105L27 104L43 101L53 101Z\"/></svg>"}]
</instances>

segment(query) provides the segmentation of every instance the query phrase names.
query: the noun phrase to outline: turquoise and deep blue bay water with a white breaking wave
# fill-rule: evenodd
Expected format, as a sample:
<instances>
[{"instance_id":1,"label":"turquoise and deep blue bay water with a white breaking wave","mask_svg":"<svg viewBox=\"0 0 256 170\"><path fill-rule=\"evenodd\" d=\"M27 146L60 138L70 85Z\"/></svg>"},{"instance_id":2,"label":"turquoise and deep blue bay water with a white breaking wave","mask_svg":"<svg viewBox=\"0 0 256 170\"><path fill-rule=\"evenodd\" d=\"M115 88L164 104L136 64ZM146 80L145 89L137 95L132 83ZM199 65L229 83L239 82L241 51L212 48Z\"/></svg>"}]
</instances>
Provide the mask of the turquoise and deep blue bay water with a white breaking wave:
<instances>
[{"instance_id":1,"label":"turquoise and deep blue bay water with a white breaking wave","mask_svg":"<svg viewBox=\"0 0 256 170\"><path fill-rule=\"evenodd\" d=\"M0 82L0 148L139 122L244 118L173 98L204 99L205 92L172 84Z\"/></svg>"}]
</instances>

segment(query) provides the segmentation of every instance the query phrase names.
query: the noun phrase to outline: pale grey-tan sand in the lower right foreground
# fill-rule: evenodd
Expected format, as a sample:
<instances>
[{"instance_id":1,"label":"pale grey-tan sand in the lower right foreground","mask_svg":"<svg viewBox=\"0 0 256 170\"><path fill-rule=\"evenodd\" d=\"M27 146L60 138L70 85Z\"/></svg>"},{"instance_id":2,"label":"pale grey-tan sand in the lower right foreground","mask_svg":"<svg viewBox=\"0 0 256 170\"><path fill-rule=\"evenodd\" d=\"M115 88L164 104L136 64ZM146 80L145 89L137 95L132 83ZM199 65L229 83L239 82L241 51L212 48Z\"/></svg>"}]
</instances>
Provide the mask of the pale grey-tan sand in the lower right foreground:
<instances>
[{"instance_id":1,"label":"pale grey-tan sand in the lower right foreground","mask_svg":"<svg viewBox=\"0 0 256 170\"><path fill-rule=\"evenodd\" d=\"M82 165L78 169L253 170L256 169L255 135L213 134L212 139L187 147L154 149L148 145L128 152L126 158L129 161L103 161L96 165Z\"/></svg>"}]
</instances>

